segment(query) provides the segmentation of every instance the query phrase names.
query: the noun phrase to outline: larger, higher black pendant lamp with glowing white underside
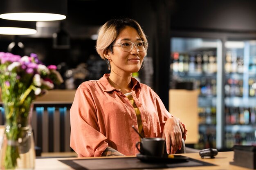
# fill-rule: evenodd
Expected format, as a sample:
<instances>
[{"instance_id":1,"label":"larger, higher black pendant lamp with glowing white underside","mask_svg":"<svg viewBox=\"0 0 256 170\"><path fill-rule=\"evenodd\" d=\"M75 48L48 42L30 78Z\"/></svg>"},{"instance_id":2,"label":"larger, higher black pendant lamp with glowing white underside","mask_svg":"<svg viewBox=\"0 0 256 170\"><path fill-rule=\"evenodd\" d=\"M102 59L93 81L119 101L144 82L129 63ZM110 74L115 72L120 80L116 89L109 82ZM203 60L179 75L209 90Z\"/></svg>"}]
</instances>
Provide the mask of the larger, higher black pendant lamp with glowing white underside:
<instances>
[{"instance_id":1,"label":"larger, higher black pendant lamp with glowing white underside","mask_svg":"<svg viewBox=\"0 0 256 170\"><path fill-rule=\"evenodd\" d=\"M20 21L64 20L67 0L1 0L0 18Z\"/></svg>"}]
</instances>

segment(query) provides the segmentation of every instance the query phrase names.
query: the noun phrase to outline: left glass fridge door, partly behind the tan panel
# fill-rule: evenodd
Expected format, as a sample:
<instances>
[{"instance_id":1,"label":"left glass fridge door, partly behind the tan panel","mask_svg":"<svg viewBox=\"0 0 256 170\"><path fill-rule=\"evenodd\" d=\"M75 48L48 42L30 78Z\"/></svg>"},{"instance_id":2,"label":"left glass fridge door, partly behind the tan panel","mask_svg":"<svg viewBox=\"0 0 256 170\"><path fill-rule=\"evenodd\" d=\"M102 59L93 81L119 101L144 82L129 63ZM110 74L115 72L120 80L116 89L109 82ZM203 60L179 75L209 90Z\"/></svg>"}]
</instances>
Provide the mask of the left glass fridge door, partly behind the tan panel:
<instances>
[{"instance_id":1,"label":"left glass fridge door, partly behind the tan panel","mask_svg":"<svg viewBox=\"0 0 256 170\"><path fill-rule=\"evenodd\" d=\"M193 146L197 149L216 148L216 100L220 86L217 68L221 52L218 39L171 38L170 89L197 89L199 94L199 136Z\"/></svg>"}]
</instances>

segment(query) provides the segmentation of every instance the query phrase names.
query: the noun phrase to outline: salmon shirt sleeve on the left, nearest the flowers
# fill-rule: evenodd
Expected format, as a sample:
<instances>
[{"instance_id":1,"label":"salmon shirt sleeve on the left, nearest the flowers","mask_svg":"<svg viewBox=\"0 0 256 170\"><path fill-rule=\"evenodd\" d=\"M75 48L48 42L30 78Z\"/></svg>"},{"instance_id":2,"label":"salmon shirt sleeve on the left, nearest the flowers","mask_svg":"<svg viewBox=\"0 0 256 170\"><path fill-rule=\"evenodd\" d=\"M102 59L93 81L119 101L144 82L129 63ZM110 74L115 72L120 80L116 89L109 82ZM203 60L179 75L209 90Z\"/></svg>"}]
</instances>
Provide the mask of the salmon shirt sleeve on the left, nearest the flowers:
<instances>
[{"instance_id":1,"label":"salmon shirt sleeve on the left, nearest the flowers","mask_svg":"<svg viewBox=\"0 0 256 170\"><path fill-rule=\"evenodd\" d=\"M78 157L98 157L108 147L107 138L99 132L97 111L91 93L78 88L70 108L70 147Z\"/></svg>"}]
</instances>

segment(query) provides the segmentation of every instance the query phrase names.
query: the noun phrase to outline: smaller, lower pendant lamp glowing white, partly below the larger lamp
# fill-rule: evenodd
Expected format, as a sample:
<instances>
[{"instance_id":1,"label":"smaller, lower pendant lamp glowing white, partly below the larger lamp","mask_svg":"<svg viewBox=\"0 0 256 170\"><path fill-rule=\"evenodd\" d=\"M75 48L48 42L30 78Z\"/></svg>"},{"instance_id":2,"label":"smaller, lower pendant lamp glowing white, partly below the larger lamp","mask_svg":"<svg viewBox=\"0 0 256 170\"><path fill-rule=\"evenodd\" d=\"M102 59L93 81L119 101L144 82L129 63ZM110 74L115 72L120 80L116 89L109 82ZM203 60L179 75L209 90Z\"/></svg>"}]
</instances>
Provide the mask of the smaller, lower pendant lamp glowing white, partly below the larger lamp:
<instances>
[{"instance_id":1,"label":"smaller, lower pendant lamp glowing white, partly below the larger lamp","mask_svg":"<svg viewBox=\"0 0 256 170\"><path fill-rule=\"evenodd\" d=\"M0 19L0 34L31 35L37 33L36 22Z\"/></svg>"}]
</instances>

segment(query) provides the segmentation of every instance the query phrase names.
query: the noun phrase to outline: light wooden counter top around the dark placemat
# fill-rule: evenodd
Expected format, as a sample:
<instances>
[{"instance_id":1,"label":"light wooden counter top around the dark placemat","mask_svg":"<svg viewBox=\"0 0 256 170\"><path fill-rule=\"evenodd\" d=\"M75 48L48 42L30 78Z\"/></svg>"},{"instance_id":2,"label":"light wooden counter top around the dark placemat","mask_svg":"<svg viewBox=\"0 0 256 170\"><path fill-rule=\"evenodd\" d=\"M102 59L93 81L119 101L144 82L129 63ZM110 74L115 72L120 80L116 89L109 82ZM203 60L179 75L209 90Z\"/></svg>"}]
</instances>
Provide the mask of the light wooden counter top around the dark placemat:
<instances>
[{"instance_id":1,"label":"light wooden counter top around the dark placemat","mask_svg":"<svg viewBox=\"0 0 256 170\"><path fill-rule=\"evenodd\" d=\"M229 162L233 161L234 152L219 152L214 159L202 159L198 153L186 153L179 154L193 159L198 159L200 161L205 161L208 163L215 164L216 166L193 166L193 167L180 167L180 168L162 168L158 170L250 170L248 168L243 168L240 166L230 165ZM129 156L134 157L134 156ZM95 159L102 159L103 157L95 157ZM114 157L104 157L106 159L111 159ZM36 159L35 170L74 170L70 166L67 166L65 163L62 163L61 159L80 159L80 158L45 158L45 159ZM85 158L82 158L85 159ZM100 160L99 160L100 161Z\"/></svg>"}]
</instances>

